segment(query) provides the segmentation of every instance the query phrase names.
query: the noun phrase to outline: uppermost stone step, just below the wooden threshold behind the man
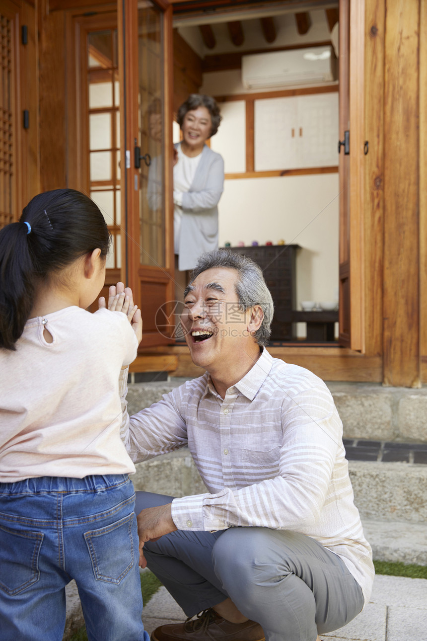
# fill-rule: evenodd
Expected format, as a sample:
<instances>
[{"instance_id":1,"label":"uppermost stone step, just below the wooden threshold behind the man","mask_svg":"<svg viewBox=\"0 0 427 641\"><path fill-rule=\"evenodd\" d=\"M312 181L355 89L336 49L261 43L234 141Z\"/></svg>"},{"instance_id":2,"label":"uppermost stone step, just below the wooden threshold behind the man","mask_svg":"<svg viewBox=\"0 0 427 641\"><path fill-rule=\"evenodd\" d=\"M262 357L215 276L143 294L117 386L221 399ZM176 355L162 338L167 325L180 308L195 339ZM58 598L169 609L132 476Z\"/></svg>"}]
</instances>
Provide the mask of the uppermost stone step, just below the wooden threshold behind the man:
<instances>
[{"instance_id":1,"label":"uppermost stone step, just below the wooden threshold behind the man","mask_svg":"<svg viewBox=\"0 0 427 641\"><path fill-rule=\"evenodd\" d=\"M149 407L188 379L129 385L129 413ZM383 387L380 383L326 383L342 420L344 438L427 442L427 387Z\"/></svg>"}]
</instances>

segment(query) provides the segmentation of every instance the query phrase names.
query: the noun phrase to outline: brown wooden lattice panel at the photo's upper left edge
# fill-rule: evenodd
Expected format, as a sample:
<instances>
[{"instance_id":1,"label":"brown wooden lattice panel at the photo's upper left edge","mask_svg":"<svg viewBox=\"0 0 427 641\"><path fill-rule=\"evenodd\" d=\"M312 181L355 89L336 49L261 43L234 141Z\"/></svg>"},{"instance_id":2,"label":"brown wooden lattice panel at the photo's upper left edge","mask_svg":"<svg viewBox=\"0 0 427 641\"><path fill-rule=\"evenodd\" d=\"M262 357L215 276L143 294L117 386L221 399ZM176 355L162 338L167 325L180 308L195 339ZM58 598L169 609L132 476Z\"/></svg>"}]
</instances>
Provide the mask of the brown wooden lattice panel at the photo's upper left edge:
<instances>
[{"instance_id":1,"label":"brown wooden lattice panel at the photo's upper left edge","mask_svg":"<svg viewBox=\"0 0 427 641\"><path fill-rule=\"evenodd\" d=\"M0 14L0 227L12 222L12 21Z\"/></svg>"}]
</instances>

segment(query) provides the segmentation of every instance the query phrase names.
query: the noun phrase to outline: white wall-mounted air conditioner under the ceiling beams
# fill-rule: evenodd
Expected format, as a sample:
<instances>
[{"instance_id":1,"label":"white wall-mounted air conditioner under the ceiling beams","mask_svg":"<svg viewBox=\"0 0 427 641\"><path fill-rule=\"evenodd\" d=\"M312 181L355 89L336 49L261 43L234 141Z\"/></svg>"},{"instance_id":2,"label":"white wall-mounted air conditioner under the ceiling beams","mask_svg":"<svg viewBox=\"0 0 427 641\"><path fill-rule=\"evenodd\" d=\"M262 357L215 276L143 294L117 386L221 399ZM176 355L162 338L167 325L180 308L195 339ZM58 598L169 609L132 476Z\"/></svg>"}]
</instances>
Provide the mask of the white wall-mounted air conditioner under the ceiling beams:
<instances>
[{"instance_id":1,"label":"white wall-mounted air conditioner under the ceiling beams","mask_svg":"<svg viewBox=\"0 0 427 641\"><path fill-rule=\"evenodd\" d=\"M336 78L337 58L331 46L242 56L242 82L246 89L311 85Z\"/></svg>"}]
</instances>

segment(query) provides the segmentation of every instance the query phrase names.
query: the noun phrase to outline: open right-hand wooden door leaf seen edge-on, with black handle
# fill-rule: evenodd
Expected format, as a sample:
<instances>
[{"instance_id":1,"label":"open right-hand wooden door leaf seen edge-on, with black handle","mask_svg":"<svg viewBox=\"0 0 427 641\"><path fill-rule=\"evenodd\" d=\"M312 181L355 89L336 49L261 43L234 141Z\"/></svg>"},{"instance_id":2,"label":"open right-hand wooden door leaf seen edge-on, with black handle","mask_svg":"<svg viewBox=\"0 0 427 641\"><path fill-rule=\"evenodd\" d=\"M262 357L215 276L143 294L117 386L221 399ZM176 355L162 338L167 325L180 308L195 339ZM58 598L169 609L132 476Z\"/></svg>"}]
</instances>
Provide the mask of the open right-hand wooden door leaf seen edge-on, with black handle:
<instances>
[{"instance_id":1,"label":"open right-hand wooden door leaf seen edge-on, with black handle","mask_svg":"<svg viewBox=\"0 0 427 641\"><path fill-rule=\"evenodd\" d=\"M343 140L344 131L350 131L350 156L343 150L339 156L339 338L342 345L360 353L366 352L364 26L365 0L340 0L339 138Z\"/></svg>"}]
</instances>

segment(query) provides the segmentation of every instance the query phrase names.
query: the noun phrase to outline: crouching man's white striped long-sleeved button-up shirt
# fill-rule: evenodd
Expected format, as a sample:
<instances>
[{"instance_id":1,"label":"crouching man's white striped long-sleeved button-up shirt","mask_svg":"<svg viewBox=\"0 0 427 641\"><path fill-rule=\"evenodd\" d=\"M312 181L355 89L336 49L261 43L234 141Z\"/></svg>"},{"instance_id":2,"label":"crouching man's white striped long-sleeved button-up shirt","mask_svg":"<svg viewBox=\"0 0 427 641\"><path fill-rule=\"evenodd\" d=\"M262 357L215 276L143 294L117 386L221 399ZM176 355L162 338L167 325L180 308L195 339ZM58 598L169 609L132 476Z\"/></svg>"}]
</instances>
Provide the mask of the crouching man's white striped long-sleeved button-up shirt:
<instances>
[{"instance_id":1,"label":"crouching man's white striped long-sleeved button-up shirt","mask_svg":"<svg viewBox=\"0 0 427 641\"><path fill-rule=\"evenodd\" d=\"M372 551L353 503L342 423L312 372L264 349L224 399L206 372L130 420L124 413L122 438L135 463L188 445L208 492L173 500L178 529L303 533L342 558L367 603Z\"/></svg>"}]
</instances>

